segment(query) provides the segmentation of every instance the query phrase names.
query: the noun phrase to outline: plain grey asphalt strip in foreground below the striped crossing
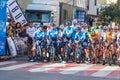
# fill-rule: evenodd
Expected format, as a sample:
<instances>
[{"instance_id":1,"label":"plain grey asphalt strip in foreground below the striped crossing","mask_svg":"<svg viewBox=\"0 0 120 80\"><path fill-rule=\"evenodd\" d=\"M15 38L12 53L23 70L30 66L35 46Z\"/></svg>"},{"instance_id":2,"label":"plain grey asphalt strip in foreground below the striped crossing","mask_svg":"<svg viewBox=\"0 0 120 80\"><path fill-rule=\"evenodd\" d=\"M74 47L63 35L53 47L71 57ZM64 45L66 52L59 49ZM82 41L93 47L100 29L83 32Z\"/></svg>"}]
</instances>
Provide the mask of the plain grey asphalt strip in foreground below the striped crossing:
<instances>
[{"instance_id":1,"label":"plain grey asphalt strip in foreground below the striped crossing","mask_svg":"<svg viewBox=\"0 0 120 80\"><path fill-rule=\"evenodd\" d=\"M0 80L119 80L73 75L0 71Z\"/></svg>"}]
</instances>

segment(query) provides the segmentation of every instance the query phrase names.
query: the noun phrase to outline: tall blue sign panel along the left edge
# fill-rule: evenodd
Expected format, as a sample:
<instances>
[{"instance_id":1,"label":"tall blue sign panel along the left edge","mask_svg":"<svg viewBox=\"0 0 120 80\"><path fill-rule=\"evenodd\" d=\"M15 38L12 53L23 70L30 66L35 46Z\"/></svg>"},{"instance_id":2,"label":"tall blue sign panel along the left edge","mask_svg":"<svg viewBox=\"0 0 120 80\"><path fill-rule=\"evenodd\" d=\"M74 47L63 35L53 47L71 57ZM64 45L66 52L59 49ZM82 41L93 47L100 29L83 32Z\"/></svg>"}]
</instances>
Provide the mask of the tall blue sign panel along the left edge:
<instances>
[{"instance_id":1,"label":"tall blue sign panel along the left edge","mask_svg":"<svg viewBox=\"0 0 120 80\"><path fill-rule=\"evenodd\" d=\"M7 0L0 0L0 55L6 55L6 8Z\"/></svg>"}]
</instances>

